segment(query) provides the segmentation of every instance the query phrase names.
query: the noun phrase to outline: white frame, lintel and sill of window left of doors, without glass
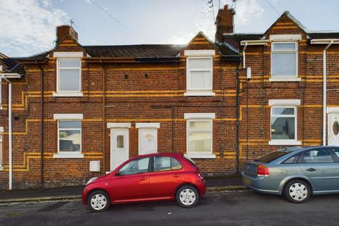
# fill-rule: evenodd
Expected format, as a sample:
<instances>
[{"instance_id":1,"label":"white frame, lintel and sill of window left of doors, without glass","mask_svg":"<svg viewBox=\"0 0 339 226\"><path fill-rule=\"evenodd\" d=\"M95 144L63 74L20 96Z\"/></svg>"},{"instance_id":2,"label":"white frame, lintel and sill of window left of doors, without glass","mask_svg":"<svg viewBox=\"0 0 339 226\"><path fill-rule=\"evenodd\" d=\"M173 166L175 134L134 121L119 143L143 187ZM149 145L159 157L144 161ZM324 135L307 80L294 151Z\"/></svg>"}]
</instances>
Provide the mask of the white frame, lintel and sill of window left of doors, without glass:
<instances>
[{"instance_id":1,"label":"white frame, lintel and sill of window left of doors, without glass","mask_svg":"<svg viewBox=\"0 0 339 226\"><path fill-rule=\"evenodd\" d=\"M83 158L83 114L54 114L54 119L57 120L57 154L54 154L54 158ZM80 143L80 151L60 151L59 150L59 136L60 136L60 128L59 128L59 122L60 121L81 121L81 128L80 128L80 136L81 136L81 143ZM79 128L67 128L69 130L79 130Z\"/></svg>"}]
</instances>

